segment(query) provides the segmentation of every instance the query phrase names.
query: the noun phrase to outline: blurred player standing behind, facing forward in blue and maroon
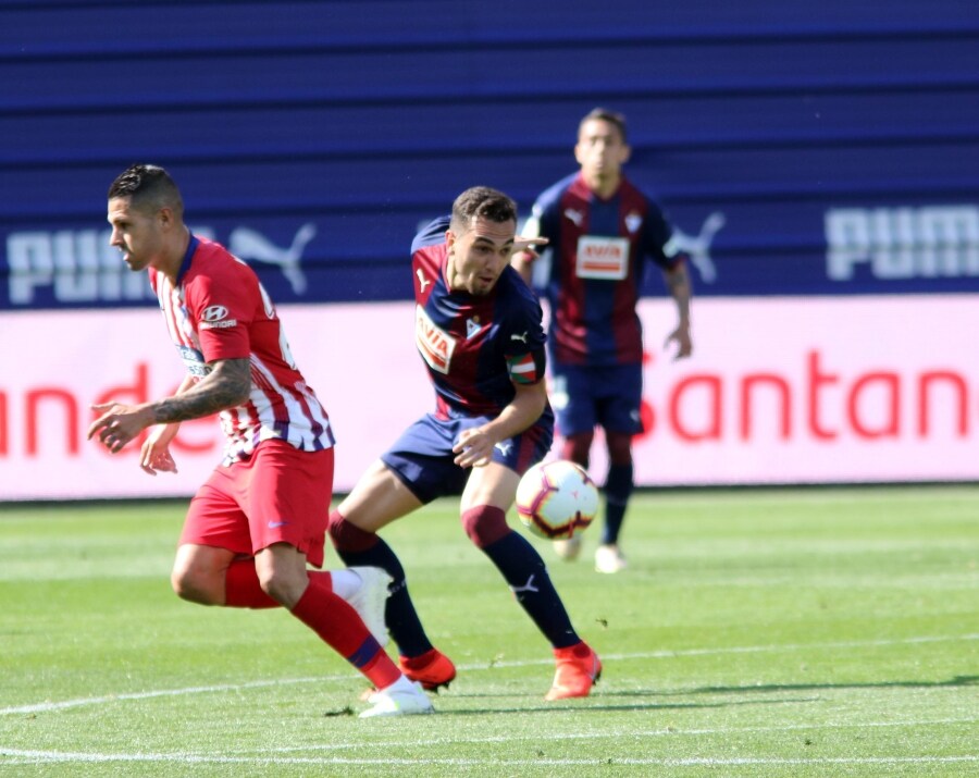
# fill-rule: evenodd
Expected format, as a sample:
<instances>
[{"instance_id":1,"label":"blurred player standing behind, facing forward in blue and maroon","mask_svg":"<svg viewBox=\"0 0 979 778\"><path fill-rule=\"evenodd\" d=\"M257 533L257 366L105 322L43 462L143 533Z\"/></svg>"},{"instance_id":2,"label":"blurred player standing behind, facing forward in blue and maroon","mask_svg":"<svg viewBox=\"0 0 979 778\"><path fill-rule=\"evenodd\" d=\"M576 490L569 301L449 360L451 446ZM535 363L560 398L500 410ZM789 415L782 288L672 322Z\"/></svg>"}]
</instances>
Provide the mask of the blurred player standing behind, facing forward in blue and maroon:
<instances>
[{"instance_id":1,"label":"blurred player standing behind, facing forward in blue and maroon","mask_svg":"<svg viewBox=\"0 0 979 778\"><path fill-rule=\"evenodd\" d=\"M552 400L565 437L561 457L587 468L595 427L605 431L609 469L595 552L600 572L625 567L619 532L634 485L632 436L643 430L643 336L635 307L644 258L662 270L677 301L679 323L667 344L677 343L677 358L693 350L685 257L659 208L625 180L629 155L625 119L600 108L590 112L574 147L581 170L537 198L524 229L525 236L548 238L548 249L533 272L533 254L513 257L513 267L528 283L533 275L550 305ZM574 558L581 536L555 547Z\"/></svg>"}]
</instances>

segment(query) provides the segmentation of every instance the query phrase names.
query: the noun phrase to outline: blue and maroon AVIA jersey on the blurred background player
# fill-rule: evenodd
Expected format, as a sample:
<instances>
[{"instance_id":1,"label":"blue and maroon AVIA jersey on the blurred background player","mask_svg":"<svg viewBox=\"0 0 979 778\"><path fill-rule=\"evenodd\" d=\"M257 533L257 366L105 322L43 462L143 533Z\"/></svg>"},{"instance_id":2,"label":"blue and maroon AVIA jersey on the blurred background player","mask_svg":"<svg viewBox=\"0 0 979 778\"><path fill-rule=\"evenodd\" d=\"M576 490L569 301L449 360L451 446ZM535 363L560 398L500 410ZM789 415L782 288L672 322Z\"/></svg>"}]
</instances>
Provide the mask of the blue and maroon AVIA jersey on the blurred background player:
<instances>
[{"instance_id":1,"label":"blue and maroon AVIA jersey on the blurred background player","mask_svg":"<svg viewBox=\"0 0 979 778\"><path fill-rule=\"evenodd\" d=\"M523 234L550 240L537 262L546 274L552 358L593 367L641 361L642 260L662 269L683 261L656 203L624 178L602 200L574 173L541 194Z\"/></svg>"}]
</instances>

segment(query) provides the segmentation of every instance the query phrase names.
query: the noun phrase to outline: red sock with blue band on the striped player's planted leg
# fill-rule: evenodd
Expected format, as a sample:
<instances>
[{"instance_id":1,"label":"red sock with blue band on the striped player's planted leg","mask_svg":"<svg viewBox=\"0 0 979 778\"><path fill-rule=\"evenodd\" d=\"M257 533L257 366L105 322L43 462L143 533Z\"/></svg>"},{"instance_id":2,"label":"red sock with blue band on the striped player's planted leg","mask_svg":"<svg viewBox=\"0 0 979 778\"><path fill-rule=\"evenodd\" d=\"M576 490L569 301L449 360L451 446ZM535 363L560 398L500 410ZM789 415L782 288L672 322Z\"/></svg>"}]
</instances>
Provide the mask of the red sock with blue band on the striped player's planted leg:
<instances>
[{"instance_id":1,"label":"red sock with blue band on the striped player's planted leg","mask_svg":"<svg viewBox=\"0 0 979 778\"><path fill-rule=\"evenodd\" d=\"M391 657L364 627L357 612L333 593L326 576L310 576L293 616L312 629L330 647L360 670L377 689L401 677Z\"/></svg>"}]
</instances>

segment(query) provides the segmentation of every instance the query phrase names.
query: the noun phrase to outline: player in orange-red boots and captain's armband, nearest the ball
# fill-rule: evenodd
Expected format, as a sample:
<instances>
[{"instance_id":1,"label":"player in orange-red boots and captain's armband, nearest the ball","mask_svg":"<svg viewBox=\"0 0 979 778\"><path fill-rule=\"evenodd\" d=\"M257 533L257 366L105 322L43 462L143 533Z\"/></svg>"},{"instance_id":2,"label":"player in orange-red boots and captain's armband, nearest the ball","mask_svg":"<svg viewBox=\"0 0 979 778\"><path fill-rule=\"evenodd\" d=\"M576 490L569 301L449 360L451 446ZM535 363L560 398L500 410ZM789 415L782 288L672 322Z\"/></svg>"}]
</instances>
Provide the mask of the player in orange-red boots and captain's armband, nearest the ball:
<instances>
[{"instance_id":1,"label":"player in orange-red boots and captain's armband, nearest the ball","mask_svg":"<svg viewBox=\"0 0 979 778\"><path fill-rule=\"evenodd\" d=\"M387 626L405 674L429 689L455 678L425 635L405 571L375 533L436 497L461 494L462 527L499 569L554 649L547 700L585 696L602 670L574 631L543 559L506 521L520 476L550 448L554 417L544 385L541 307L510 268L517 207L486 187L463 192L453 214L412 244L416 343L435 386L435 412L408 428L361 477L330 520L348 565L395 579Z\"/></svg>"}]
</instances>

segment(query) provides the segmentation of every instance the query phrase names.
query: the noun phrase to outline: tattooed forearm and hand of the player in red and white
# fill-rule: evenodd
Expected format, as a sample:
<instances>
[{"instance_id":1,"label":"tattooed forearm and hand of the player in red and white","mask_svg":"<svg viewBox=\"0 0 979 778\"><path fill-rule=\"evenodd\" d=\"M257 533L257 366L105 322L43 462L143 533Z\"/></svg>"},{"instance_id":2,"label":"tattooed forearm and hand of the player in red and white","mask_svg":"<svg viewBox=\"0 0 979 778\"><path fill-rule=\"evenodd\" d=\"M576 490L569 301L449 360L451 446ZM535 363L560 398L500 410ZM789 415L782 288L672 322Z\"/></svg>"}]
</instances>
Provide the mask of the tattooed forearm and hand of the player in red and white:
<instances>
[{"instance_id":1,"label":"tattooed forearm and hand of the player in red and white","mask_svg":"<svg viewBox=\"0 0 979 778\"><path fill-rule=\"evenodd\" d=\"M211 372L187 392L156 403L124 405L102 403L95 410L104 411L88 428L88 440L99 441L113 454L122 450L147 427L200 419L248 399L251 369L248 359L219 359Z\"/></svg>"}]
</instances>

